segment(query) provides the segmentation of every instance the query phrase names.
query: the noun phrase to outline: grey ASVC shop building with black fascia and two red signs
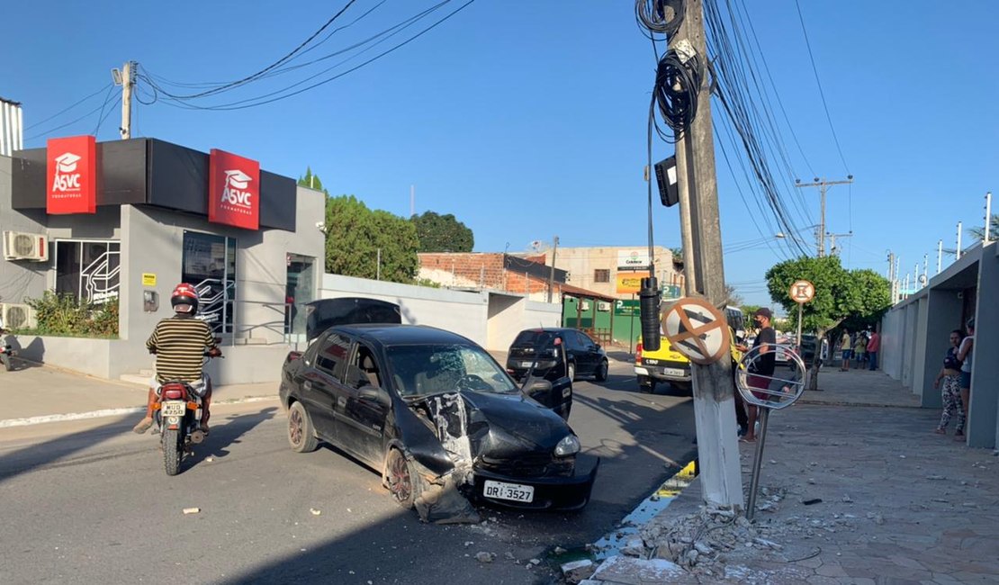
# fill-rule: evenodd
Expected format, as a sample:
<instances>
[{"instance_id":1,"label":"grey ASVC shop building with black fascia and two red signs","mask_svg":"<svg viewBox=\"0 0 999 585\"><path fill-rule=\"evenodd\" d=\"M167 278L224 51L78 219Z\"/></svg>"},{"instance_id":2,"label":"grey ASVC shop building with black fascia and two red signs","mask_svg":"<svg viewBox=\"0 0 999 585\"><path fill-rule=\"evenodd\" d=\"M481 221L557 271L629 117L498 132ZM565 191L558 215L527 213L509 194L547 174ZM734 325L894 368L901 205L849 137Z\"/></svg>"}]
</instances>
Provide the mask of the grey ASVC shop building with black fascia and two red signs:
<instances>
[{"instance_id":1,"label":"grey ASVC shop building with black fascia and two red signs","mask_svg":"<svg viewBox=\"0 0 999 585\"><path fill-rule=\"evenodd\" d=\"M220 381L275 379L304 331L288 301L317 298L323 194L221 151L70 140L0 157L0 303L8 326L30 327L26 301L46 291L117 302L118 336L22 335L22 354L107 378L148 369L144 341L187 282L229 346L211 365Z\"/></svg>"}]
</instances>

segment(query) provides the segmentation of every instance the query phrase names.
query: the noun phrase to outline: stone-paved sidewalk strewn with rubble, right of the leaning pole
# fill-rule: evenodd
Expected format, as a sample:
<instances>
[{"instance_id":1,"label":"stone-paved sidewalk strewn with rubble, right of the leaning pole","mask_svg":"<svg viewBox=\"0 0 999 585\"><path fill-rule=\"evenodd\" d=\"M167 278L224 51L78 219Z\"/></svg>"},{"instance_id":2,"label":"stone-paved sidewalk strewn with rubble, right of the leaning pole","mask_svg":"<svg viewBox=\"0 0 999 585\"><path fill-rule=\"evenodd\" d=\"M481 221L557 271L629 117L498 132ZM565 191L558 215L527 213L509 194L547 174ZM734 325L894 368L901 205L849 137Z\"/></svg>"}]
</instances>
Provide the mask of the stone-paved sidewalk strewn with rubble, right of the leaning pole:
<instances>
[{"instance_id":1,"label":"stone-paved sidewalk strewn with rubble, right of the leaning pole","mask_svg":"<svg viewBox=\"0 0 999 585\"><path fill-rule=\"evenodd\" d=\"M582 582L997 582L999 451L955 441L955 420L935 434L940 411L881 372L819 387L771 413L754 523L705 510L697 478ZM748 492L755 444L740 451Z\"/></svg>"}]
</instances>

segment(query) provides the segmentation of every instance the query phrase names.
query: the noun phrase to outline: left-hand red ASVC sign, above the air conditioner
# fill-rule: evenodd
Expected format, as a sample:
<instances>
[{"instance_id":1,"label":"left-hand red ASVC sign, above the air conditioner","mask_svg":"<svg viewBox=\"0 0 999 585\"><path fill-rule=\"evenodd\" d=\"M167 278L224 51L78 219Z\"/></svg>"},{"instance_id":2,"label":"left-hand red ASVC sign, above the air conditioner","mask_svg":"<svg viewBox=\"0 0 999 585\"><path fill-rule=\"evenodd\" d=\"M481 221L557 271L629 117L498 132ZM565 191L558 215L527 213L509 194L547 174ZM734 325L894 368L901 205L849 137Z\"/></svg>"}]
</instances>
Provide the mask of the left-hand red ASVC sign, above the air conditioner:
<instances>
[{"instance_id":1,"label":"left-hand red ASVC sign, above the air conditioner","mask_svg":"<svg viewBox=\"0 0 999 585\"><path fill-rule=\"evenodd\" d=\"M51 138L48 142L48 195L51 215L97 212L97 140L93 136Z\"/></svg>"}]
</instances>

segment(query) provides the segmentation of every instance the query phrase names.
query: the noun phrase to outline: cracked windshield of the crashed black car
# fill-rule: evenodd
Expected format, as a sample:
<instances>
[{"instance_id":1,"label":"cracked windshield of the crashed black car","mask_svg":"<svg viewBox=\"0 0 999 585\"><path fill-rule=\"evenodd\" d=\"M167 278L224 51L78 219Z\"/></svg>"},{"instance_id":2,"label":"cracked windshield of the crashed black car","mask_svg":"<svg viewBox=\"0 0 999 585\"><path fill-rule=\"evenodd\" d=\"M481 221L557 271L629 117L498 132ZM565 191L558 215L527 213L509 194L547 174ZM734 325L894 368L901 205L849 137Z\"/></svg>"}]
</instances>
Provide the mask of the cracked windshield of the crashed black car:
<instances>
[{"instance_id":1,"label":"cracked windshield of the crashed black car","mask_svg":"<svg viewBox=\"0 0 999 585\"><path fill-rule=\"evenodd\" d=\"M519 390L484 349L474 345L392 345L389 367L400 394L426 396L456 390Z\"/></svg>"}]
</instances>

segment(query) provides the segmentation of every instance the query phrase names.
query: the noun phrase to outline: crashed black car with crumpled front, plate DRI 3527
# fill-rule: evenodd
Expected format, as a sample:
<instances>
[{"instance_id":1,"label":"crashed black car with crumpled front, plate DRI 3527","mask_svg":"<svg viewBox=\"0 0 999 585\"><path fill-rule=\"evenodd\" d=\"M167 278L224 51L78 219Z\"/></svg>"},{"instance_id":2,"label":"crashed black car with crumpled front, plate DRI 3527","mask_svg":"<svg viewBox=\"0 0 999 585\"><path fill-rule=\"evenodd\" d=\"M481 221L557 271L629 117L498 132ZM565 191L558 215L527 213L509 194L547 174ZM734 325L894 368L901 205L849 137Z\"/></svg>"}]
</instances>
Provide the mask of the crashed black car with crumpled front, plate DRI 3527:
<instances>
[{"instance_id":1,"label":"crashed black car with crumpled front, plate DRI 3527","mask_svg":"<svg viewBox=\"0 0 999 585\"><path fill-rule=\"evenodd\" d=\"M563 378L564 379L564 378ZM568 391L566 391L568 390ZM421 325L349 324L291 352L280 395L294 450L326 441L375 470L404 507L430 490L505 506L579 509L599 459L555 412L570 386L518 387L475 342Z\"/></svg>"}]
</instances>

